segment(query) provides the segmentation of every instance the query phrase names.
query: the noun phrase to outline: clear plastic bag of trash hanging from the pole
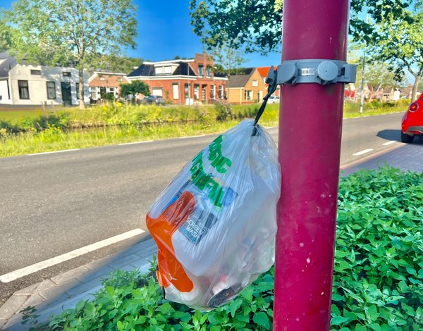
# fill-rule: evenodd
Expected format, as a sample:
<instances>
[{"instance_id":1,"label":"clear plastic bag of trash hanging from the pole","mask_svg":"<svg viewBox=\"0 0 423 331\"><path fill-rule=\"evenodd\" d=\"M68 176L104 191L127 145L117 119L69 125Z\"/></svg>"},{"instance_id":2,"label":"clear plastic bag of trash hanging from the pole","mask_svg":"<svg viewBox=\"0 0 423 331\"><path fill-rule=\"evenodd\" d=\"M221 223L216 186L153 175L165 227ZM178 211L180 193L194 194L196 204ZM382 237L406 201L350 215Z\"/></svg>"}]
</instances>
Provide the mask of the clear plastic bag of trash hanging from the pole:
<instances>
[{"instance_id":1,"label":"clear plastic bag of trash hanging from the pole","mask_svg":"<svg viewBox=\"0 0 423 331\"><path fill-rule=\"evenodd\" d=\"M269 133L253 129L244 120L219 135L147 213L157 279L170 301L211 310L274 263L281 170Z\"/></svg>"}]
</instances>

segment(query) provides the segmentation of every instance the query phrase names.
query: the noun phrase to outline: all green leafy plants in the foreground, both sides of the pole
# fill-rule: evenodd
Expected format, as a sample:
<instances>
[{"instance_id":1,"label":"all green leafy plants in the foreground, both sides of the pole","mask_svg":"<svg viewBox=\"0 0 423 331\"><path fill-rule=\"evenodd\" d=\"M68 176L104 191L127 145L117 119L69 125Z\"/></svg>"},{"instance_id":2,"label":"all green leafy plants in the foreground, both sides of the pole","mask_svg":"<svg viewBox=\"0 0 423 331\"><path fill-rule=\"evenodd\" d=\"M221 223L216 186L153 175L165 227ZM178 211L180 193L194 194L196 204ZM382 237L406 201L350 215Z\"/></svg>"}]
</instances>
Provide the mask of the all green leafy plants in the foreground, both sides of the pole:
<instances>
[{"instance_id":1,"label":"all green leafy plants in the foreground, both sides of the pole","mask_svg":"<svg viewBox=\"0 0 423 331\"><path fill-rule=\"evenodd\" d=\"M342 177L331 330L423 329L423 175L394 168ZM92 301L38 330L271 330L274 268L226 306L163 299L154 273L116 270ZM36 319L28 308L24 322Z\"/></svg>"}]
</instances>

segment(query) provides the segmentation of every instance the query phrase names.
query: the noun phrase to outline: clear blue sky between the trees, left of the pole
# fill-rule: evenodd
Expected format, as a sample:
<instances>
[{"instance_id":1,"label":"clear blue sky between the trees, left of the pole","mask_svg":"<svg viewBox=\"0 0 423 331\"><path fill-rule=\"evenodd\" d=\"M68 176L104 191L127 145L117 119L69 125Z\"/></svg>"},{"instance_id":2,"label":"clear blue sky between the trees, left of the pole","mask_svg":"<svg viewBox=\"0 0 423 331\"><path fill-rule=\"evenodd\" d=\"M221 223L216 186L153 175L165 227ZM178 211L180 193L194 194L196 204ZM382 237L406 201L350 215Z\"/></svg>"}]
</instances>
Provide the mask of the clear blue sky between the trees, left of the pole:
<instances>
[{"instance_id":1,"label":"clear blue sky between the trees, left of the pole","mask_svg":"<svg viewBox=\"0 0 423 331\"><path fill-rule=\"evenodd\" d=\"M0 6L10 7L13 0L0 0ZM135 49L128 56L145 61L163 61L175 56L192 58L202 53L200 37L192 32L189 0L134 0L138 6L138 37ZM260 67L280 63L281 55L248 54L245 67Z\"/></svg>"}]
</instances>

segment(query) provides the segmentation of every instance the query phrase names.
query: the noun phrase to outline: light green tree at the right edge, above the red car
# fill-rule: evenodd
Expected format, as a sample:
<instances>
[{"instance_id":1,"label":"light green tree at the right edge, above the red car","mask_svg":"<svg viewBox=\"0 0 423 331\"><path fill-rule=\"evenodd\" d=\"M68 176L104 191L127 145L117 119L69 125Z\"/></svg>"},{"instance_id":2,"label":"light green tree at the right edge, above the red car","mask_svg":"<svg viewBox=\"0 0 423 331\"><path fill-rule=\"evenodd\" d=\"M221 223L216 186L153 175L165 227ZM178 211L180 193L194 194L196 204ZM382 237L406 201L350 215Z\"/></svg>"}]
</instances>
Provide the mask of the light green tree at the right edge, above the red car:
<instances>
[{"instance_id":1,"label":"light green tree at the right edge, above the red car","mask_svg":"<svg viewBox=\"0 0 423 331\"><path fill-rule=\"evenodd\" d=\"M422 2L404 9L406 19L389 15L376 30L372 53L380 61L387 61L396 77L403 77L408 70L415 82L411 99L415 100L423 75L423 11Z\"/></svg>"}]
</instances>

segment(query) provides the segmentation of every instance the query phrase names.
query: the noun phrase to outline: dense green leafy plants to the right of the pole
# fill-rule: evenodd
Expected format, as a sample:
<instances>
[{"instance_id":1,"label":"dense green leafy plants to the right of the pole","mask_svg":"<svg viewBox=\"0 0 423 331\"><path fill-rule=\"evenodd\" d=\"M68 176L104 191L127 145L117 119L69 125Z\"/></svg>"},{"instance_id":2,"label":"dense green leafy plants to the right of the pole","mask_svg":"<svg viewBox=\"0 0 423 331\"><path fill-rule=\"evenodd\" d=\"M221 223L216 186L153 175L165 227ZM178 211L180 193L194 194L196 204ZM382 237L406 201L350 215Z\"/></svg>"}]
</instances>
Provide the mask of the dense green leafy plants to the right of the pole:
<instances>
[{"instance_id":1,"label":"dense green leafy plants to the right of the pole","mask_svg":"<svg viewBox=\"0 0 423 331\"><path fill-rule=\"evenodd\" d=\"M332 325L422 330L422 200L422 174L386 167L341 180Z\"/></svg>"}]
</instances>

